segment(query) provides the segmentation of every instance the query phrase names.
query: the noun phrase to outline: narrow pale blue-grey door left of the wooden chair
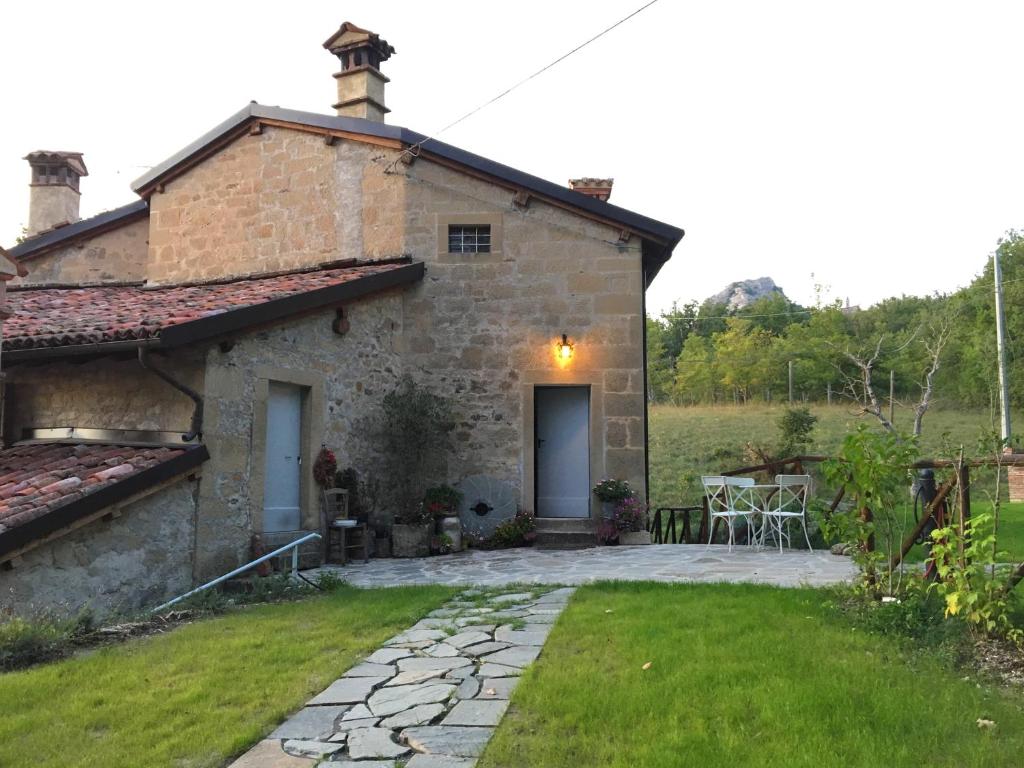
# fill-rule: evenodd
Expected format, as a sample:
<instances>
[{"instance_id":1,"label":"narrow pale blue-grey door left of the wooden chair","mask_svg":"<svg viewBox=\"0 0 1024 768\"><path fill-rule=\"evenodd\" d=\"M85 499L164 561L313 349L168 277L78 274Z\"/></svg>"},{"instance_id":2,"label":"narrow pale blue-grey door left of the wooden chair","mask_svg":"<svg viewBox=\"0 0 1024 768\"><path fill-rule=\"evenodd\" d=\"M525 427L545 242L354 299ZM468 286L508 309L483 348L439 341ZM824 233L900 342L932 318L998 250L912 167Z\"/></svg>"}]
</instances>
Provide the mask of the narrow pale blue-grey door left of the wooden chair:
<instances>
[{"instance_id":1,"label":"narrow pale blue-grey door left of the wooden chair","mask_svg":"<svg viewBox=\"0 0 1024 768\"><path fill-rule=\"evenodd\" d=\"M263 530L298 530L302 389L271 381L266 397Z\"/></svg>"}]
</instances>

